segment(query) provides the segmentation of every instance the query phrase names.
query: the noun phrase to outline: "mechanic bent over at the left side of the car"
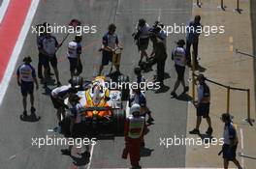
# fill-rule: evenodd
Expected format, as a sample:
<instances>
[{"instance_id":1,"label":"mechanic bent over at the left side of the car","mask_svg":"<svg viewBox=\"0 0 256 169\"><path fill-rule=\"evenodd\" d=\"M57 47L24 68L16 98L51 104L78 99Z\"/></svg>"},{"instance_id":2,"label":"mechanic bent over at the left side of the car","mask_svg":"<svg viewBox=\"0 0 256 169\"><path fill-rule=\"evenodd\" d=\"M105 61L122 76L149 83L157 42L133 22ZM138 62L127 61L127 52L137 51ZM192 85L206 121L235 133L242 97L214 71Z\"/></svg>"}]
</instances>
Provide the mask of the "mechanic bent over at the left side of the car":
<instances>
[{"instance_id":1,"label":"mechanic bent over at the left side of the car","mask_svg":"<svg viewBox=\"0 0 256 169\"><path fill-rule=\"evenodd\" d=\"M55 109L57 109L58 125L61 123L61 115L65 118L65 108L69 108L64 100L71 94L75 93L74 89L70 86L60 86L51 91L50 99Z\"/></svg>"}]
</instances>

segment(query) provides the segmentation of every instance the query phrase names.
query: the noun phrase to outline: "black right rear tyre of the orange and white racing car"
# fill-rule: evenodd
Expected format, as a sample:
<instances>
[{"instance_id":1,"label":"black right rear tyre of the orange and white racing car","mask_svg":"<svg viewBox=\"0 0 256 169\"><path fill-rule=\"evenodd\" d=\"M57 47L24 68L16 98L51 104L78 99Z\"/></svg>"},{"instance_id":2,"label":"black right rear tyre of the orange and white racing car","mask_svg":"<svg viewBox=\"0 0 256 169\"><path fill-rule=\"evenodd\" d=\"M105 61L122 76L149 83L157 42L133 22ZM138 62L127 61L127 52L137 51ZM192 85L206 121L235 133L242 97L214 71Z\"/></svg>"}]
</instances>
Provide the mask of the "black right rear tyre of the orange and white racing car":
<instances>
[{"instance_id":1,"label":"black right rear tyre of the orange and white racing car","mask_svg":"<svg viewBox=\"0 0 256 169\"><path fill-rule=\"evenodd\" d=\"M125 110L117 109L113 111L112 130L115 136L123 136L125 118Z\"/></svg>"}]
</instances>

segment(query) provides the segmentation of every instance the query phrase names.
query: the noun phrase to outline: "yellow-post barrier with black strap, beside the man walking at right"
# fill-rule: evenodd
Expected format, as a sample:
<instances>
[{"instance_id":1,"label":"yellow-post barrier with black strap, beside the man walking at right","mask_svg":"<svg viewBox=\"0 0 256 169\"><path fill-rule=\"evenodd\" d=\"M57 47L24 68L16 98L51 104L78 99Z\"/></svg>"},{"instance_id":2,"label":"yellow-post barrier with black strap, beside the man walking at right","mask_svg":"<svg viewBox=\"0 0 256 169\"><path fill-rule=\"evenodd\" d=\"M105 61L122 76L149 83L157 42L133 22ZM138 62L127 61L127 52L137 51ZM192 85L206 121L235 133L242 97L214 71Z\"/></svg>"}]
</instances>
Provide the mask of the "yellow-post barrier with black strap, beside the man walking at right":
<instances>
[{"instance_id":1,"label":"yellow-post barrier with black strap, beside the man walking at right","mask_svg":"<svg viewBox=\"0 0 256 169\"><path fill-rule=\"evenodd\" d=\"M193 102L195 102L195 84L196 84L196 76L198 76L196 73L195 73L195 57L194 57L194 53L193 53L193 57L192 57L192 100ZM212 81L212 80L209 80L208 78L206 78L206 81L210 82L210 83L213 83L215 85L218 85L218 86L221 86L221 87L224 87L227 89L227 95L226 95L226 112L227 113L230 113L230 91L231 90L235 90L235 91L241 91L241 92L246 92L247 94L247 118L244 119L245 122L247 122L250 126L252 126L252 123L254 122L253 119L251 119L251 112L250 112L250 89L242 89L242 88L236 88L236 87L231 87L231 86L227 86L227 85L223 85L223 84L220 84L218 82L215 82L215 81Z\"/></svg>"}]
</instances>

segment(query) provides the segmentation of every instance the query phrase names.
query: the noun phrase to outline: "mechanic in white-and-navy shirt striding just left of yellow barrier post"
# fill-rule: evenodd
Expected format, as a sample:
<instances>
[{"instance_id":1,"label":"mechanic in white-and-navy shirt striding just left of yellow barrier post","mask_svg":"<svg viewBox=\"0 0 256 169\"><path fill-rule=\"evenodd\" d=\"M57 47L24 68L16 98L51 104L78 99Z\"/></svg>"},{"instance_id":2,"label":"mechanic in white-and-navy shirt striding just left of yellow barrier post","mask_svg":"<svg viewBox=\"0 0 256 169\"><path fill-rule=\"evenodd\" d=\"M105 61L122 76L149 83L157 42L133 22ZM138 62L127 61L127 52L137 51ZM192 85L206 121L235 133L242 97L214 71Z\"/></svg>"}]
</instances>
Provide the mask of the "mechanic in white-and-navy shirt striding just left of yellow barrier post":
<instances>
[{"instance_id":1,"label":"mechanic in white-and-navy shirt striding just left of yellow barrier post","mask_svg":"<svg viewBox=\"0 0 256 169\"><path fill-rule=\"evenodd\" d=\"M188 86L185 86L185 80L184 80L184 72L186 68L186 52L183 48L183 45L185 44L184 40L179 40L176 42L177 46L172 52L172 60L175 60L175 67L176 67L176 83L174 90L172 91L171 95L176 98L176 89L178 88L179 84L183 86L183 94L186 93L189 88Z\"/></svg>"}]
</instances>

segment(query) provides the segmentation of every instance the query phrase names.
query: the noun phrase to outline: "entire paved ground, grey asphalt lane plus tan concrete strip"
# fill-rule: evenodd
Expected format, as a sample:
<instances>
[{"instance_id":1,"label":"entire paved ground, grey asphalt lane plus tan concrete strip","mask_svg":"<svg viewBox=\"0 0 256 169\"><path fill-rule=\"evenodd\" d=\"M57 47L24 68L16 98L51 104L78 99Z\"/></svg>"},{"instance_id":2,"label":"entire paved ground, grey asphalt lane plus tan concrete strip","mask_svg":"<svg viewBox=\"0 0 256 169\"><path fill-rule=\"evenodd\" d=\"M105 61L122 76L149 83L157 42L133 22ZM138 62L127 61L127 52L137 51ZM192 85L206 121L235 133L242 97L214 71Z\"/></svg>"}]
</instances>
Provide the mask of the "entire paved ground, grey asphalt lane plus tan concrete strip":
<instances>
[{"instance_id":1,"label":"entire paved ground, grey asphalt lane plus tan concrete strip","mask_svg":"<svg viewBox=\"0 0 256 169\"><path fill-rule=\"evenodd\" d=\"M1 0L0 0L1 2ZM136 22L144 17L149 24L160 19L166 25L187 24L195 14L202 15L204 25L225 26L225 34L211 35L200 38L199 56L201 66L206 68L205 74L208 78L225 85L251 89L251 116L255 119L255 92L254 92L254 67L253 60L245 56L236 54L236 48L248 53L256 53L255 41L255 12L249 14L250 9L256 8L256 3L251 0L241 1L241 14L233 13L235 0L225 1L228 7L226 12L216 9L219 1L203 1L202 9L193 8L192 1L187 0L44 0L41 1L38 11L34 17L33 25L48 21L50 24L56 23L66 25L70 19L79 18L83 25L96 25L97 33L83 36L82 51L82 76L90 78L97 74L101 54L98 48L101 46L102 35L107 30L109 23L114 22L117 26L116 33L119 41L124 46L121 61L121 71L134 79L133 68L137 65L139 53L131 37ZM251 29L250 26L253 25ZM246 26L241 26L246 25ZM60 42L64 34L55 34ZM74 36L70 36L71 41ZM202 146L170 146L161 145L160 139L175 137L188 137L197 139L195 135L189 135L188 130L195 125L195 108L188 103L188 96L183 99L171 99L170 92L176 79L174 63L171 62L170 53L176 46L176 41L184 38L184 34L172 34L168 37L168 60L166 72L171 76L165 80L165 84L171 89L166 93L154 94L146 92L146 99L153 113L155 125L149 127L150 131L145 136L144 156L141 164L144 168L184 168L184 167L222 167L222 158L217 156L220 146L203 148ZM252 39L253 37L253 39ZM66 59L67 42L57 53L59 60L60 78L66 84L69 75L69 64ZM255 44L255 43L254 43ZM148 52L151 50L151 46ZM36 47L36 35L28 34L22 51L19 55L17 65L21 64L23 56L33 56L32 65L37 66L38 51ZM16 65L16 67L17 67ZM105 70L108 72L110 68ZM155 68L154 68L155 70ZM144 73L146 78L150 78L155 71ZM189 72L186 71L186 78ZM242 78L241 78L242 77ZM222 123L219 120L220 114L226 111L225 89L209 85L211 89L210 115L213 126L213 136L220 138L222 135ZM60 149L65 146L44 146L41 149L31 146L31 138L34 137L59 137L49 128L56 126L55 110L52 107L48 94L55 85L49 85L49 89L40 86L36 92L37 114L41 120L36 123L28 123L19 120L22 113L21 96L16 85L16 78L12 79L5 99L0 106L0 169L65 169L65 168L127 168L130 167L129 160L121 158L124 140L116 137L113 140L100 140L93 147L90 159L80 159L60 154ZM181 92L181 89L177 91ZM255 127L250 127L242 122L246 117L246 96L240 92L231 93L230 113L235 117L234 122L238 127L240 145L238 152L253 157L256 155L253 149L255 140ZM201 131L207 127L203 122ZM254 124L255 125L255 124ZM170 140L170 139L169 139ZM74 150L74 153L80 150ZM255 160L248 157L239 157L244 168L255 168ZM74 164L77 163L76 165ZM234 167L234 166L232 166Z\"/></svg>"}]
</instances>

